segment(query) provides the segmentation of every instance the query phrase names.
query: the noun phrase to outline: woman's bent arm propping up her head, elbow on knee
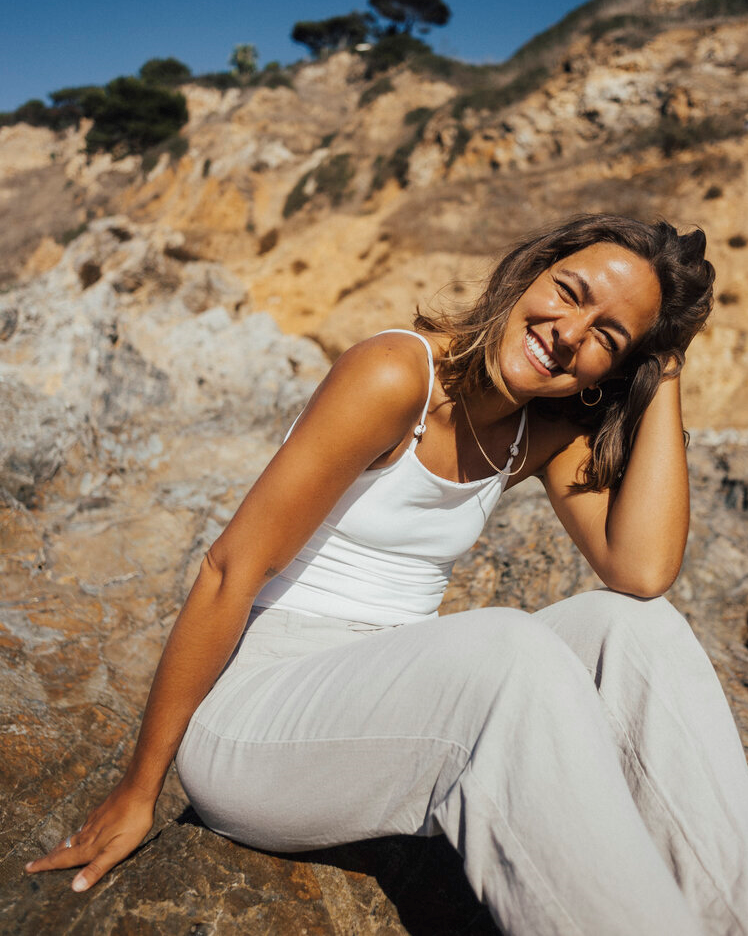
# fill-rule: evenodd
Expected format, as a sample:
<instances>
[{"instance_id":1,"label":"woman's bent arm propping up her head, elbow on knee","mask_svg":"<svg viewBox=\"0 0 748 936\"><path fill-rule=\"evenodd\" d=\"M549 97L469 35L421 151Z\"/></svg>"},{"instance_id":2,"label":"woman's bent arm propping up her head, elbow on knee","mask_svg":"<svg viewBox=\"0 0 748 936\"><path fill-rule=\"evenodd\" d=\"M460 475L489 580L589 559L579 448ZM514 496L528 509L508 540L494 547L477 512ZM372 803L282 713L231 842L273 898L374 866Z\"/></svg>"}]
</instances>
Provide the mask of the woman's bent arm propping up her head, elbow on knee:
<instances>
[{"instance_id":1,"label":"woman's bent arm propping up her head, elbow on knee","mask_svg":"<svg viewBox=\"0 0 748 936\"><path fill-rule=\"evenodd\" d=\"M589 453L584 437L559 452L541 479L567 532L603 582L641 598L673 584L688 535L688 468L680 377L664 379L642 416L616 492L574 493Z\"/></svg>"}]
</instances>

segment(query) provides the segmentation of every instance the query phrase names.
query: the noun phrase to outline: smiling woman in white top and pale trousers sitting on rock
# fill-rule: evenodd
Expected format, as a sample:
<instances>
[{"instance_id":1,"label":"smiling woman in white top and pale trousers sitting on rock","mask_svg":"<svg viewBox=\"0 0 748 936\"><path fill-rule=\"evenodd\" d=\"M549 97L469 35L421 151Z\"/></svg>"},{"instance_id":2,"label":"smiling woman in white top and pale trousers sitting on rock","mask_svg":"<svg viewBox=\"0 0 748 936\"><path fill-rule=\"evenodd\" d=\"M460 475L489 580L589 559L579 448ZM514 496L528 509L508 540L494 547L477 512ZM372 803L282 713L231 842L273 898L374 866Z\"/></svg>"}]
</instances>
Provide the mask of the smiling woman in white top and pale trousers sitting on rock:
<instances>
[{"instance_id":1,"label":"smiling woman in white top and pale trousers sitting on rock","mask_svg":"<svg viewBox=\"0 0 748 936\"><path fill-rule=\"evenodd\" d=\"M747 932L745 759L656 597L688 528L704 247L576 218L468 314L346 352L205 556L125 777L29 870L85 865L90 887L150 829L178 751L204 821L256 847L444 832L508 933ZM609 590L437 617L530 475Z\"/></svg>"}]
</instances>

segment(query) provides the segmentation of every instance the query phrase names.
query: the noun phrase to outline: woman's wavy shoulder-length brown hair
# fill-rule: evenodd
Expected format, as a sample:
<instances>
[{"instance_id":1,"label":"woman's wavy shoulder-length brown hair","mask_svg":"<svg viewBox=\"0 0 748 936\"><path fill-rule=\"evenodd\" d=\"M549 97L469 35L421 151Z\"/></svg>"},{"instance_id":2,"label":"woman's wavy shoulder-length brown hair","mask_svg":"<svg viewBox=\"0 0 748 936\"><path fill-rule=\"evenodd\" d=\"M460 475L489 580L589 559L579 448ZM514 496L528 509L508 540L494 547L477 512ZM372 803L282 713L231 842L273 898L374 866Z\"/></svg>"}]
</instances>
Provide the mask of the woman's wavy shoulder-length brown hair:
<instances>
[{"instance_id":1,"label":"woman's wavy shoulder-length brown hair","mask_svg":"<svg viewBox=\"0 0 748 936\"><path fill-rule=\"evenodd\" d=\"M693 336L712 307L714 268L704 259L700 229L678 234L666 221L644 224L616 215L580 215L517 244L498 264L477 303L467 311L418 310L415 327L450 337L440 365L447 393L498 387L511 398L499 368L499 347L515 302L557 261L593 244L618 244L648 261L660 284L657 319L615 373L600 383L598 405L579 395L536 400L543 416L565 416L589 434L590 457L579 491L600 491L620 483L639 420L665 373L675 376ZM674 363L673 363L674 362Z\"/></svg>"}]
</instances>

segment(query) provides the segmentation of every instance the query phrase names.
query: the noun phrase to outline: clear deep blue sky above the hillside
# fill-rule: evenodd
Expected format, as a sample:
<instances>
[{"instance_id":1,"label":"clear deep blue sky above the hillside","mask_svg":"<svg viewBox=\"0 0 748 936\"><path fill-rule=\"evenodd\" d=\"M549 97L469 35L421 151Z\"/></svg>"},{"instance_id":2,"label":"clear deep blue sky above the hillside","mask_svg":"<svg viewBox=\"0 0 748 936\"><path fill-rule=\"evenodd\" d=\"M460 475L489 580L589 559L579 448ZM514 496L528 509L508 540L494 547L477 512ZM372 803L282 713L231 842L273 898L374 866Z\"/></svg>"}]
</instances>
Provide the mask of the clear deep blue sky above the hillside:
<instances>
[{"instance_id":1,"label":"clear deep blue sky above the hillside","mask_svg":"<svg viewBox=\"0 0 748 936\"><path fill-rule=\"evenodd\" d=\"M448 0L449 2L449 0ZM437 52L500 62L578 6L574 0L454 0L450 23L431 32ZM233 47L252 42L260 64L302 58L289 39L301 19L365 9L365 0L7 0L0 17L0 111L71 85L135 74L173 55L195 74L224 71Z\"/></svg>"}]
</instances>

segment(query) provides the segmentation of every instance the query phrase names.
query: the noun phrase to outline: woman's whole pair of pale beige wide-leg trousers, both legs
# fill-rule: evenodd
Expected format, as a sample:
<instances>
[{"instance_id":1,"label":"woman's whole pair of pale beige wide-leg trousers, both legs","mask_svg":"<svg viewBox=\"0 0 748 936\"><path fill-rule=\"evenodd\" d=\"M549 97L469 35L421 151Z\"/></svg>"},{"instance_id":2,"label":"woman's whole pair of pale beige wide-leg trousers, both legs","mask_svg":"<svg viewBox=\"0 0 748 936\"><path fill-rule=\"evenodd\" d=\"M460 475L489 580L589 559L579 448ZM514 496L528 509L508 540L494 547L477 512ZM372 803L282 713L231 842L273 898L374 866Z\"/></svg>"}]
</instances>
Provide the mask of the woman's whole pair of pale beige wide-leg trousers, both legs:
<instances>
[{"instance_id":1,"label":"woman's whole pair of pale beige wide-leg trousers, both legs","mask_svg":"<svg viewBox=\"0 0 748 936\"><path fill-rule=\"evenodd\" d=\"M177 767L259 848L444 832L512 936L748 933L748 769L664 598L388 628L253 612Z\"/></svg>"}]
</instances>

